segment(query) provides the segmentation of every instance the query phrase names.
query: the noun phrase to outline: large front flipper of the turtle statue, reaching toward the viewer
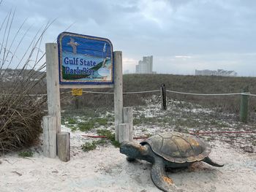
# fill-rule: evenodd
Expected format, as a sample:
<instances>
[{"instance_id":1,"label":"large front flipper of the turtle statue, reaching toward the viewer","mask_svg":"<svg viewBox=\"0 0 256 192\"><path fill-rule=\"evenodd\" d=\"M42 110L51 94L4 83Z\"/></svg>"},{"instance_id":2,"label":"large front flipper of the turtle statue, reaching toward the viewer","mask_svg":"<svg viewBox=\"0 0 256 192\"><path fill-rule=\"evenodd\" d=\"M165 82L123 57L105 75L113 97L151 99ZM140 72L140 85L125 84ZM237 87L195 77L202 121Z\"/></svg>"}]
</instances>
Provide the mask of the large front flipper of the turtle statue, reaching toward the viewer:
<instances>
[{"instance_id":1,"label":"large front flipper of the turtle statue, reaching toward the viewer","mask_svg":"<svg viewBox=\"0 0 256 192\"><path fill-rule=\"evenodd\" d=\"M165 192L183 191L174 185L165 172L165 164L162 159L155 161L151 169L151 179L157 188Z\"/></svg>"}]
</instances>

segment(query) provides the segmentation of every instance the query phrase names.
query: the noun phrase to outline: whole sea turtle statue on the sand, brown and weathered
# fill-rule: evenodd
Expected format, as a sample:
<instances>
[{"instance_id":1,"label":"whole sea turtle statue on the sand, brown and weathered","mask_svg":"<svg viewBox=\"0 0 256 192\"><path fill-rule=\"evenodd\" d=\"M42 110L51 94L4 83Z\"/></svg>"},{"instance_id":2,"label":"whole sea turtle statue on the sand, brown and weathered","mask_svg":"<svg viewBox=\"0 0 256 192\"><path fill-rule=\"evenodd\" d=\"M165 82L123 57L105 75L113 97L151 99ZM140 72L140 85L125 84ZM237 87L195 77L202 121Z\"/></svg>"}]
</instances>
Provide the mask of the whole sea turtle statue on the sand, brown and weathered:
<instances>
[{"instance_id":1,"label":"whole sea turtle statue on the sand, brown and weathered","mask_svg":"<svg viewBox=\"0 0 256 192\"><path fill-rule=\"evenodd\" d=\"M211 148L202 140L190 134L168 132L157 134L140 142L122 142L120 152L127 155L127 161L136 158L153 164L151 179L162 191L182 191L176 188L167 177L165 169L189 166L196 161L204 161L212 166L223 166L214 163L208 157Z\"/></svg>"}]
</instances>

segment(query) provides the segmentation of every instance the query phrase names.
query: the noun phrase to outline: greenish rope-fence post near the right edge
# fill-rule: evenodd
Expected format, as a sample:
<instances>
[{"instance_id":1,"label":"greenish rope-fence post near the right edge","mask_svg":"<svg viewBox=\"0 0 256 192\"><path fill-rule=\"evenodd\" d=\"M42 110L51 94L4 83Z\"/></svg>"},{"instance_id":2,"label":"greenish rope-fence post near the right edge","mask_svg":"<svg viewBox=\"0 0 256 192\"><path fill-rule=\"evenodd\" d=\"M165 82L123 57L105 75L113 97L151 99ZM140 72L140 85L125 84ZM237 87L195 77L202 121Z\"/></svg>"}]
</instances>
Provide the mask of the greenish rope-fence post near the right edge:
<instances>
[{"instance_id":1,"label":"greenish rope-fence post near the right edge","mask_svg":"<svg viewBox=\"0 0 256 192\"><path fill-rule=\"evenodd\" d=\"M243 93L249 92L249 87L247 86L242 90ZM248 113L249 113L249 96L241 95L241 103L240 103L240 120L241 122L247 123L248 121Z\"/></svg>"}]
</instances>

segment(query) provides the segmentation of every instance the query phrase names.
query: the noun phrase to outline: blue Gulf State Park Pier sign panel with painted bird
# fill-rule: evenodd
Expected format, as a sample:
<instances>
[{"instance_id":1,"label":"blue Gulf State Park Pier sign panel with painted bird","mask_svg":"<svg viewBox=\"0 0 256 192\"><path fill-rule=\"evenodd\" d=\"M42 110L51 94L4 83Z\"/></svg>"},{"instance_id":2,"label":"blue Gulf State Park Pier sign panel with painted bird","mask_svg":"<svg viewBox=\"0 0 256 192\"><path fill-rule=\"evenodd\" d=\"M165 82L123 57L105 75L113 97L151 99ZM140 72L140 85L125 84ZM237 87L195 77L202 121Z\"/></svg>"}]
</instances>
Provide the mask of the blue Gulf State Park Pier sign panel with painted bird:
<instances>
[{"instance_id":1,"label":"blue Gulf State Park Pier sign panel with painted bird","mask_svg":"<svg viewBox=\"0 0 256 192\"><path fill-rule=\"evenodd\" d=\"M59 34L58 47L60 84L113 84L113 46L110 40L63 32Z\"/></svg>"}]
</instances>

